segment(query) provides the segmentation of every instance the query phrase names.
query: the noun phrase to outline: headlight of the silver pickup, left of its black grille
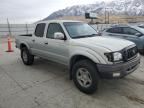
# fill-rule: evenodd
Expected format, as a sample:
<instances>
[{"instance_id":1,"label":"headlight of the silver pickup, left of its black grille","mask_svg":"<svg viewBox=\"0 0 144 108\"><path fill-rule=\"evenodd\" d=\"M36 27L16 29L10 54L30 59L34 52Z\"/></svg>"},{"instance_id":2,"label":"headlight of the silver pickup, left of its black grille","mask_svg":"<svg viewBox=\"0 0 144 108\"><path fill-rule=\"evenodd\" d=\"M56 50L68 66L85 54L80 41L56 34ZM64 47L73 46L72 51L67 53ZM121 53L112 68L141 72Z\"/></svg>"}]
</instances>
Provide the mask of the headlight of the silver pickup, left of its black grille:
<instances>
[{"instance_id":1,"label":"headlight of the silver pickup, left of its black grille","mask_svg":"<svg viewBox=\"0 0 144 108\"><path fill-rule=\"evenodd\" d=\"M120 52L105 53L105 56L110 62L116 62L122 60L122 54Z\"/></svg>"}]
</instances>

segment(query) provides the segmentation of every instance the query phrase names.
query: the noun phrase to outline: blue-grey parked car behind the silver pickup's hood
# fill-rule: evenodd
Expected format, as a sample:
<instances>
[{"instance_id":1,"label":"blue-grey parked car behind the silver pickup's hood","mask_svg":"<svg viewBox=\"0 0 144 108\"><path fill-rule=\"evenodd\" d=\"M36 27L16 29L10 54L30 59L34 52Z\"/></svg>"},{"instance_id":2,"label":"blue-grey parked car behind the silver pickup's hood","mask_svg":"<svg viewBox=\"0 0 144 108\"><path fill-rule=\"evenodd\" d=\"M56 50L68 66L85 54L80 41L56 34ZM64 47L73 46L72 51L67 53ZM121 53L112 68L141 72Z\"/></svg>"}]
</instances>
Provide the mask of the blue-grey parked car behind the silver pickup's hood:
<instances>
[{"instance_id":1,"label":"blue-grey parked car behind the silver pickup's hood","mask_svg":"<svg viewBox=\"0 0 144 108\"><path fill-rule=\"evenodd\" d=\"M137 45L140 53L144 53L144 29L132 25L115 25L105 29L103 36L111 36L130 40Z\"/></svg>"}]
</instances>

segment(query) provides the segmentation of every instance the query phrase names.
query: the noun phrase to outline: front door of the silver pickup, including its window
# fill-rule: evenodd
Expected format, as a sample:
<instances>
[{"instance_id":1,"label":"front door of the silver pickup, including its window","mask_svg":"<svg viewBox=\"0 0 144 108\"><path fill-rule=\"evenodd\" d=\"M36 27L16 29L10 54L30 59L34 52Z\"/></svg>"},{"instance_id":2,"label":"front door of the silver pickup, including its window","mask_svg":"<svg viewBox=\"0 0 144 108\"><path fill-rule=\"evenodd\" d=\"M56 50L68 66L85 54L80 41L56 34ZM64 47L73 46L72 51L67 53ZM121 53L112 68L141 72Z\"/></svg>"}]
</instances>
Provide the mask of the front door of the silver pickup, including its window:
<instances>
[{"instance_id":1,"label":"front door of the silver pickup, including its window","mask_svg":"<svg viewBox=\"0 0 144 108\"><path fill-rule=\"evenodd\" d=\"M54 33L56 32L61 32L65 34L60 24L50 23L48 25L45 39L45 43L47 43L46 45L47 55L49 59L52 59L53 61L62 64L68 64L68 58L69 58L68 40L54 39Z\"/></svg>"}]
</instances>

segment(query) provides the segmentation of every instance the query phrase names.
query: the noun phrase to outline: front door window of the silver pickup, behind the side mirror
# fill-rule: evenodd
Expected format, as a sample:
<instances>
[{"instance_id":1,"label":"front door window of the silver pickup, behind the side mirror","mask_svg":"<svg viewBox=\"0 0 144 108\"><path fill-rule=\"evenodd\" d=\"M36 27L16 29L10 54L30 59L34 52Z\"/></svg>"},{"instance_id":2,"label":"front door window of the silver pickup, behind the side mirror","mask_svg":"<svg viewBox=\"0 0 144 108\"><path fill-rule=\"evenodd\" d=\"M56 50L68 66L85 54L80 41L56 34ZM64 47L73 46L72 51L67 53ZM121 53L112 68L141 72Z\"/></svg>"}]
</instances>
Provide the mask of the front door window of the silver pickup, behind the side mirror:
<instances>
[{"instance_id":1,"label":"front door window of the silver pickup, behind the side mirror","mask_svg":"<svg viewBox=\"0 0 144 108\"><path fill-rule=\"evenodd\" d=\"M61 27L60 24L58 24L58 23L51 23L48 26L46 37L54 39L54 33L56 33L56 32L64 33L64 31L63 31L63 29L62 29L62 27Z\"/></svg>"}]
</instances>

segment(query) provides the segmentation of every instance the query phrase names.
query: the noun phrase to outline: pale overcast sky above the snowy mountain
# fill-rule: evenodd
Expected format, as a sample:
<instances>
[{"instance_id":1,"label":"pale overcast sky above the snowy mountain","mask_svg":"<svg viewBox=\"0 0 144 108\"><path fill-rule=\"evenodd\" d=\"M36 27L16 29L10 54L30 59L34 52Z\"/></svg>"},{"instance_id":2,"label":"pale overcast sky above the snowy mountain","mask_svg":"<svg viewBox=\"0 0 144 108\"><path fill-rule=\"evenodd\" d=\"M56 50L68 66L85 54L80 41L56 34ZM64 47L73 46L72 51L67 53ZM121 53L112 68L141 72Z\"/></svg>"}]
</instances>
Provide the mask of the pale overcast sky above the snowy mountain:
<instances>
[{"instance_id":1,"label":"pale overcast sky above the snowy mountain","mask_svg":"<svg viewBox=\"0 0 144 108\"><path fill-rule=\"evenodd\" d=\"M102 0L0 0L0 23L33 23L54 11ZM103 0L109 2L112 0Z\"/></svg>"}]
</instances>

